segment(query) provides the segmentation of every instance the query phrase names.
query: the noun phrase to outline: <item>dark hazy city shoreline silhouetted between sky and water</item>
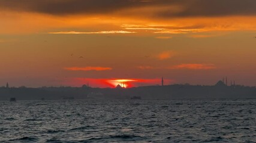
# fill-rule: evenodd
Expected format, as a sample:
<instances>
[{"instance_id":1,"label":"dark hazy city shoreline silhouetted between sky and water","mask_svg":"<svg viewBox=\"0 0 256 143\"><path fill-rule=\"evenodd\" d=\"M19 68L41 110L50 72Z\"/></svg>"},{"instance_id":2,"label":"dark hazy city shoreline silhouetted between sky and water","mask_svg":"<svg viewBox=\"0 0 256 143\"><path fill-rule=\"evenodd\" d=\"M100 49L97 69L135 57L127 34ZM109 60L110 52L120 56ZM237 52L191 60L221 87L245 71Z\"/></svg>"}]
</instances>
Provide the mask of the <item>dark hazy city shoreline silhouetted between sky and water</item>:
<instances>
[{"instance_id":1,"label":"dark hazy city shoreline silhouetted between sky and water","mask_svg":"<svg viewBox=\"0 0 256 143\"><path fill-rule=\"evenodd\" d=\"M256 88L249 86L226 86L219 82L213 86L165 85L134 88L43 87L0 88L0 100L88 100L88 99L214 99L256 98Z\"/></svg>"}]
</instances>

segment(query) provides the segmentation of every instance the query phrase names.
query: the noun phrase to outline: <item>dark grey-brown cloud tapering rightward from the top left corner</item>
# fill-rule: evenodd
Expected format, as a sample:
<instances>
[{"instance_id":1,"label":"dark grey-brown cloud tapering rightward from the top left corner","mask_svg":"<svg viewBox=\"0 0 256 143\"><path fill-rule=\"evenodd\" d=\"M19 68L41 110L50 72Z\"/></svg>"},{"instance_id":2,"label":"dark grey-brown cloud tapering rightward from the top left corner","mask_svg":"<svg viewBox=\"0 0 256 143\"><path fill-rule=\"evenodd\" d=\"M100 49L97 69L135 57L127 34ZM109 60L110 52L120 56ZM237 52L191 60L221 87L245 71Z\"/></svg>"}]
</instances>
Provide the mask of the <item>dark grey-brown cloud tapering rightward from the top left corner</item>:
<instances>
[{"instance_id":1,"label":"dark grey-brown cloud tapering rightward from the top left corner","mask_svg":"<svg viewBox=\"0 0 256 143\"><path fill-rule=\"evenodd\" d=\"M0 8L53 15L111 13L123 8L140 7L148 2L128 0L1 0Z\"/></svg>"}]
</instances>

